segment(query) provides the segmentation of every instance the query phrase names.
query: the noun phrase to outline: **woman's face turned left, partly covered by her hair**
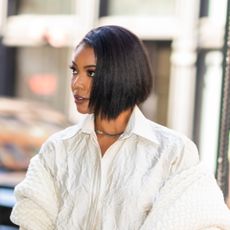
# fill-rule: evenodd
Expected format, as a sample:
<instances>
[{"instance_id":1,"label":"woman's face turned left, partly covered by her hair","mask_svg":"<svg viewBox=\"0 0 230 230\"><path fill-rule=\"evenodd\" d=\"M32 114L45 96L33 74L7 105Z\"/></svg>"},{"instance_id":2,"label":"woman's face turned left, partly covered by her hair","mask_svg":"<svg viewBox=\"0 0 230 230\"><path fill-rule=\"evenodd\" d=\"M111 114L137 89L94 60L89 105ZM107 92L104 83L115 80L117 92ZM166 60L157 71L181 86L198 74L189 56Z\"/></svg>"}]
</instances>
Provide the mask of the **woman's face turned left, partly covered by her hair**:
<instances>
[{"instance_id":1,"label":"woman's face turned left, partly covered by her hair","mask_svg":"<svg viewBox=\"0 0 230 230\"><path fill-rule=\"evenodd\" d=\"M89 99L93 77L96 71L96 57L93 48L81 44L74 52L71 88L74 102L80 113L90 113Z\"/></svg>"}]
</instances>

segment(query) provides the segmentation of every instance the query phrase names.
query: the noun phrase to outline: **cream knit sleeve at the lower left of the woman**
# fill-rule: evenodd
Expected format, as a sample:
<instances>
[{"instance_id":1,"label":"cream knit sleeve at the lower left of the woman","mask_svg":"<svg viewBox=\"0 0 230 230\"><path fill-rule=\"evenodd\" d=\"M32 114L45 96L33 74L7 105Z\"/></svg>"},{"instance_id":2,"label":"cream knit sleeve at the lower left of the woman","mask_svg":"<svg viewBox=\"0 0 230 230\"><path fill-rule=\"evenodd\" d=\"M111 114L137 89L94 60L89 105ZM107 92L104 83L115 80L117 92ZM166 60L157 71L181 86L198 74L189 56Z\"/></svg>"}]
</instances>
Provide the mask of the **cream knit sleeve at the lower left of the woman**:
<instances>
[{"instance_id":1,"label":"cream knit sleeve at the lower left of the woman","mask_svg":"<svg viewBox=\"0 0 230 230\"><path fill-rule=\"evenodd\" d=\"M11 221L26 230L55 229L58 199L53 176L40 154L31 159L25 179L15 187Z\"/></svg>"}]
</instances>

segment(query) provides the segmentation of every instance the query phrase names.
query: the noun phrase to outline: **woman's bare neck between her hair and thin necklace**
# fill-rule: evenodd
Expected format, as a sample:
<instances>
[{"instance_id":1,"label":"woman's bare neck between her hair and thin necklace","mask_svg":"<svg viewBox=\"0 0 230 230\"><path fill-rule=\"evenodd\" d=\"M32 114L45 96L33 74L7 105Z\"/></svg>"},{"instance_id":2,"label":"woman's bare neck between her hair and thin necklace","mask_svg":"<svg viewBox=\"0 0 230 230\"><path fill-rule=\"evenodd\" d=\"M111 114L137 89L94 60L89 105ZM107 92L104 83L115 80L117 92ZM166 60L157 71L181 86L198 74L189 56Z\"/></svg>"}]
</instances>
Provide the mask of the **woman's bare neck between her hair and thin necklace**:
<instances>
[{"instance_id":1,"label":"woman's bare neck between her hair and thin necklace","mask_svg":"<svg viewBox=\"0 0 230 230\"><path fill-rule=\"evenodd\" d=\"M128 124L131 113L132 109L125 110L113 120L101 119L100 116L96 117L95 132L98 135L108 137L117 137L121 135Z\"/></svg>"}]
</instances>

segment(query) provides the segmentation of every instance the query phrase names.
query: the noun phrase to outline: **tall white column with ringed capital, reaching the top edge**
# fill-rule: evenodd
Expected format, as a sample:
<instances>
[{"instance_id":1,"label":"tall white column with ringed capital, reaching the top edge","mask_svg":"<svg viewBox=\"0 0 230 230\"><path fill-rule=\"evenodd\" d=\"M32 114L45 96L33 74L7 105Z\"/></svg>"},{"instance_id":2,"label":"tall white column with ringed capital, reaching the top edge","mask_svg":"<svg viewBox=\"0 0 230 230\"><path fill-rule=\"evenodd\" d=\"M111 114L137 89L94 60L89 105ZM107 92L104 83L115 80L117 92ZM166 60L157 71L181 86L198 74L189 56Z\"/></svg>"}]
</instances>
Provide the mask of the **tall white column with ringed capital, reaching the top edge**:
<instances>
[{"instance_id":1,"label":"tall white column with ringed capital, reaching the top edge","mask_svg":"<svg viewBox=\"0 0 230 230\"><path fill-rule=\"evenodd\" d=\"M172 43L168 126L192 137L199 0L177 0Z\"/></svg>"}]
</instances>

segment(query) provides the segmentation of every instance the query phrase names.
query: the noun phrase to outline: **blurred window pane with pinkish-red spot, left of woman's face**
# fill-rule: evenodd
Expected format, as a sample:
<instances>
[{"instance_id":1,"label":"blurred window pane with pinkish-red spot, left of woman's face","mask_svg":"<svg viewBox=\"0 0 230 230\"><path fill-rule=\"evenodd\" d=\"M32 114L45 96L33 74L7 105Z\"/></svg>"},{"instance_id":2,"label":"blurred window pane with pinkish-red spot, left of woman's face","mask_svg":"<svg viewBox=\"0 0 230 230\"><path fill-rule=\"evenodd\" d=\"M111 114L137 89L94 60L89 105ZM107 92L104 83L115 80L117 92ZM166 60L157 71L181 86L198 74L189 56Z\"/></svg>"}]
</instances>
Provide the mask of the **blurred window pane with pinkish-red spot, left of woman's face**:
<instances>
[{"instance_id":1,"label":"blurred window pane with pinkish-red spot, left of woman's face","mask_svg":"<svg viewBox=\"0 0 230 230\"><path fill-rule=\"evenodd\" d=\"M21 47L17 55L16 95L64 112L70 82L68 48Z\"/></svg>"}]
</instances>

